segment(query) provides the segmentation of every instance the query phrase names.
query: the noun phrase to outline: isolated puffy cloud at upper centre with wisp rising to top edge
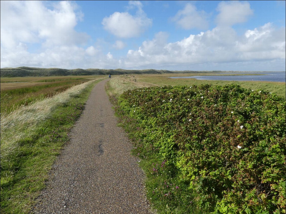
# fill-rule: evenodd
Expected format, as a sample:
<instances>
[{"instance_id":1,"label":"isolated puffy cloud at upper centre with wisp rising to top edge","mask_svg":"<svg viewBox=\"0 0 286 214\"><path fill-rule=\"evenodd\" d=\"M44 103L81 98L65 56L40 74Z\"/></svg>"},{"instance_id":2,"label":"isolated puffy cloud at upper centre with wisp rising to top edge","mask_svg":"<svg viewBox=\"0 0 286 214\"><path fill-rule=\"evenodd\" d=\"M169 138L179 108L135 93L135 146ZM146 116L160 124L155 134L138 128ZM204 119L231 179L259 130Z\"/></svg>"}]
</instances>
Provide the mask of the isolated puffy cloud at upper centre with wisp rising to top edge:
<instances>
[{"instance_id":1,"label":"isolated puffy cloud at upper centre with wisp rising to top edge","mask_svg":"<svg viewBox=\"0 0 286 214\"><path fill-rule=\"evenodd\" d=\"M137 37L152 25L152 19L149 19L142 10L140 1L129 1L129 7L136 7L136 15L130 15L128 12L115 12L102 20L104 29L120 38Z\"/></svg>"}]
</instances>

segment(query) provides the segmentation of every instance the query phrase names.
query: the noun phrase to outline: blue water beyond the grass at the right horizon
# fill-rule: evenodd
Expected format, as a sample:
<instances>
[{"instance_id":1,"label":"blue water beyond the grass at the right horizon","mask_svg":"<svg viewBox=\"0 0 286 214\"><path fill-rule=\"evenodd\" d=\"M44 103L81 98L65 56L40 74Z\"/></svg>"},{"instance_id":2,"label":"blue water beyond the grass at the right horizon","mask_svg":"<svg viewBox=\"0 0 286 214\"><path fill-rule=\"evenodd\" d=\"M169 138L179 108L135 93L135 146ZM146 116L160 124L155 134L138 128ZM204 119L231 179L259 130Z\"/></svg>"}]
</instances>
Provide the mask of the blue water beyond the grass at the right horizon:
<instances>
[{"instance_id":1,"label":"blue water beyond the grass at the right horizon","mask_svg":"<svg viewBox=\"0 0 286 214\"><path fill-rule=\"evenodd\" d=\"M285 72L247 72L247 73L219 73L223 76L177 76L170 78L196 78L198 80L233 80L233 81L269 81L269 82L286 82ZM228 75L228 74L248 74L248 75ZM264 74L264 75L249 75L249 74Z\"/></svg>"}]
</instances>

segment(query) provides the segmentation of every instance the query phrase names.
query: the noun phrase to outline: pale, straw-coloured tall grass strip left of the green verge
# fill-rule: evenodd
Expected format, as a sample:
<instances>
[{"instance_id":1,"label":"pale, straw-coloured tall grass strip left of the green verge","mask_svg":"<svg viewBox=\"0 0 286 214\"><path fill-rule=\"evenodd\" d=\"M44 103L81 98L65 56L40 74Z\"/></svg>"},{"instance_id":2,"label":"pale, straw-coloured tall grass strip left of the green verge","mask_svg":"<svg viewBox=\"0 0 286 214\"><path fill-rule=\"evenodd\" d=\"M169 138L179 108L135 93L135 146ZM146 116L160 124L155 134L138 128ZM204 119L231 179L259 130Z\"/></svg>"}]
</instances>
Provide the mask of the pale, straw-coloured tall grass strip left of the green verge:
<instances>
[{"instance_id":1,"label":"pale, straw-coloured tall grass strip left of the green verge","mask_svg":"<svg viewBox=\"0 0 286 214\"><path fill-rule=\"evenodd\" d=\"M94 81L73 86L51 98L21 106L10 114L1 113L1 168L3 168L5 161L9 161L11 154L17 153L17 141L19 139L29 136L29 130L35 128L40 121L48 118L53 109L67 102L71 97L80 94Z\"/></svg>"}]
</instances>

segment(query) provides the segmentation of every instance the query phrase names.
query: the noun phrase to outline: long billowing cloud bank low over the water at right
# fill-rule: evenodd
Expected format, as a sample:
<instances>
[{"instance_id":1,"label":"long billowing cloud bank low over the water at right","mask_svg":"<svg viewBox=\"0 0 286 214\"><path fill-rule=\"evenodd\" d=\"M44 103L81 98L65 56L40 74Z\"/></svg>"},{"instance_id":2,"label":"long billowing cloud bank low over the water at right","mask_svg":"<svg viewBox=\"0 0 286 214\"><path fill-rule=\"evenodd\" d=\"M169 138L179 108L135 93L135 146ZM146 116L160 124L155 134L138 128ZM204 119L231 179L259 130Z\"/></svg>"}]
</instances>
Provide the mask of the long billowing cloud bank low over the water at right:
<instances>
[{"instance_id":1,"label":"long billowing cloud bank low over the water at right","mask_svg":"<svg viewBox=\"0 0 286 214\"><path fill-rule=\"evenodd\" d=\"M216 27L174 43L162 42L164 33L129 50L125 65L229 63L281 59L285 61L285 27L271 23L238 36L231 27ZM166 35L165 35L166 37ZM165 39L166 41L166 39Z\"/></svg>"}]
</instances>

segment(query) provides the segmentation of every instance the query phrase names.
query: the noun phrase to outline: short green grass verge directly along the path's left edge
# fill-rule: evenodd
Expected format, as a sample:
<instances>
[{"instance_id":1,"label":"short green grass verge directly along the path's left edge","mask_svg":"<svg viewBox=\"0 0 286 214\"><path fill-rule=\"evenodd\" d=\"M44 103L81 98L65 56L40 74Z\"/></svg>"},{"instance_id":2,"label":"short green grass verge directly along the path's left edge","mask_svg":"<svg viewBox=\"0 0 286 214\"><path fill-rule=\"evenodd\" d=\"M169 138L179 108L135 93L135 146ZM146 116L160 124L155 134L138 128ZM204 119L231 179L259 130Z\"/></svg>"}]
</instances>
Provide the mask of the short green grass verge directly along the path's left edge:
<instances>
[{"instance_id":1,"label":"short green grass verge directly along the path's left edge","mask_svg":"<svg viewBox=\"0 0 286 214\"><path fill-rule=\"evenodd\" d=\"M1 164L1 213L28 213L36 203L55 158L69 141L68 133L99 81L61 103L33 129L23 131L26 133L17 140L17 151Z\"/></svg>"}]
</instances>

